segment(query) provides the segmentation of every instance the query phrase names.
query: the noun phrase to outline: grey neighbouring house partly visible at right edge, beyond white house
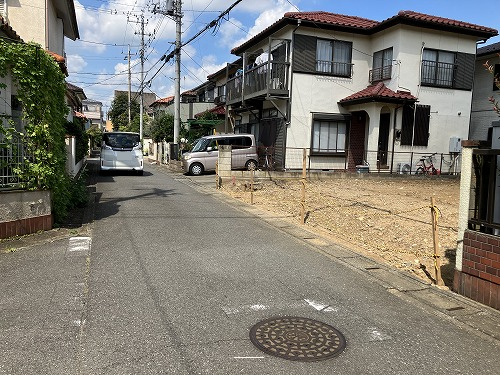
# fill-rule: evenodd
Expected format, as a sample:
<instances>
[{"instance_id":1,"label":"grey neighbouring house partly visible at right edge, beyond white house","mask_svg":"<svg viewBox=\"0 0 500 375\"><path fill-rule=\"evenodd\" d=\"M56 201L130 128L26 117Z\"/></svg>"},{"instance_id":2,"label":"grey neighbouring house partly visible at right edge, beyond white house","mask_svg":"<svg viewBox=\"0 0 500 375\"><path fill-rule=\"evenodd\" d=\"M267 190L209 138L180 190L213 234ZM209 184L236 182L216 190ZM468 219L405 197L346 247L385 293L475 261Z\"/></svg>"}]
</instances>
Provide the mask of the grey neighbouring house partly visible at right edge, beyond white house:
<instances>
[{"instance_id":1,"label":"grey neighbouring house partly visible at right edge, beyond white house","mask_svg":"<svg viewBox=\"0 0 500 375\"><path fill-rule=\"evenodd\" d=\"M476 72L474 75L474 93L472 95L472 114L469 139L476 141L491 141L491 123L498 121L498 114L488 100L496 97L500 100L500 89L495 85L494 75L500 75L500 42L478 48L476 57ZM493 66L494 75L484 64Z\"/></svg>"}]
</instances>

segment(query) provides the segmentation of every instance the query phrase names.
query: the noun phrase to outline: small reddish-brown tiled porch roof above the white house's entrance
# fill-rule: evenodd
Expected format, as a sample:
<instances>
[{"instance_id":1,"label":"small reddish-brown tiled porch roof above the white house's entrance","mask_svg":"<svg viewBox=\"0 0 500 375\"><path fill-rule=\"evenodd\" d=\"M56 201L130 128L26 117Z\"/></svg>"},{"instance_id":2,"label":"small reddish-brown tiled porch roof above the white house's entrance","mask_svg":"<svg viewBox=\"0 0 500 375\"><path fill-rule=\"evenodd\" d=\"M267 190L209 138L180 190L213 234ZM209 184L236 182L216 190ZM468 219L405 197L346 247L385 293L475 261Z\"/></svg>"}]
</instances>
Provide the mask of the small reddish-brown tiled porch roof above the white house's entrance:
<instances>
[{"instance_id":1,"label":"small reddish-brown tiled porch roof above the white house's entrance","mask_svg":"<svg viewBox=\"0 0 500 375\"><path fill-rule=\"evenodd\" d=\"M339 103L352 105L367 102L401 103L405 101L415 102L417 98L407 91L392 91L383 82L379 82L341 99Z\"/></svg>"}]
</instances>

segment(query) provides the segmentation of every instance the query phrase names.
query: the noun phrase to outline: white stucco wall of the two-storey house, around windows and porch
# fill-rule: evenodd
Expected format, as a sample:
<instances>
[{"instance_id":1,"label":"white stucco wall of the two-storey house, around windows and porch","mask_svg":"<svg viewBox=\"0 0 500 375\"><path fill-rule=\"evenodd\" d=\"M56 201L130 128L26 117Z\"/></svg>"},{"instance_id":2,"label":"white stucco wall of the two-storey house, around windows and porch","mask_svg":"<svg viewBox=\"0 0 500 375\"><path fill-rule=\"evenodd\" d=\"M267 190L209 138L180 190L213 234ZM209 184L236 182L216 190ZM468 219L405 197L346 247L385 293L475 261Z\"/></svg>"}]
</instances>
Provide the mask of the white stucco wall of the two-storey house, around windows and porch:
<instances>
[{"instance_id":1,"label":"white stucco wall of the two-storey house, around windows and porch","mask_svg":"<svg viewBox=\"0 0 500 375\"><path fill-rule=\"evenodd\" d=\"M304 30L299 29L301 33ZM352 78L338 78L314 74L294 73L292 85L291 123L287 132L287 147L311 145L312 112L349 113L365 110L369 115L367 128L367 150L376 152L378 124L381 109L386 106L391 111L389 144L392 147L394 104L361 104L347 111L337 103L339 100L365 89L368 85L369 70L373 53L393 47L392 79L384 81L393 91L410 91L418 97L418 104L431 106L429 143L427 147L400 146L394 144L394 151L449 152L450 137L467 139L471 113L472 92L420 86L420 66L422 45L426 48L451 52L475 53L476 40L471 37L425 30L409 26L396 26L373 37L332 33L326 31L309 32L317 37L336 38L353 43ZM396 128L401 129L402 111L398 111ZM318 160L318 158L316 158ZM335 162L332 159L332 162ZM317 168L323 168L318 161Z\"/></svg>"}]
</instances>

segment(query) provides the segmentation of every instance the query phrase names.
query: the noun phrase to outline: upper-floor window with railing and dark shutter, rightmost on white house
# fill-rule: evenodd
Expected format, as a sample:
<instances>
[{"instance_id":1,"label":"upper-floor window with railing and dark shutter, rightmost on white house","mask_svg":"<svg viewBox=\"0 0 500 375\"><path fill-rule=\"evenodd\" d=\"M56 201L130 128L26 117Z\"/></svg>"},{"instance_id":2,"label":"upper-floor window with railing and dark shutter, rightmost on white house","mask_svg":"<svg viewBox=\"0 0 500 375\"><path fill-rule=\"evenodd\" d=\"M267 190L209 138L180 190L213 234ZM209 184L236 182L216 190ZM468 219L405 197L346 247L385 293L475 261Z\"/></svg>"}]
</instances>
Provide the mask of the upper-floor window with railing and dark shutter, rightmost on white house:
<instances>
[{"instance_id":1,"label":"upper-floor window with railing and dark shutter, rightmost on white house","mask_svg":"<svg viewBox=\"0 0 500 375\"><path fill-rule=\"evenodd\" d=\"M472 90L475 56L469 53L424 49L423 86Z\"/></svg>"}]
</instances>

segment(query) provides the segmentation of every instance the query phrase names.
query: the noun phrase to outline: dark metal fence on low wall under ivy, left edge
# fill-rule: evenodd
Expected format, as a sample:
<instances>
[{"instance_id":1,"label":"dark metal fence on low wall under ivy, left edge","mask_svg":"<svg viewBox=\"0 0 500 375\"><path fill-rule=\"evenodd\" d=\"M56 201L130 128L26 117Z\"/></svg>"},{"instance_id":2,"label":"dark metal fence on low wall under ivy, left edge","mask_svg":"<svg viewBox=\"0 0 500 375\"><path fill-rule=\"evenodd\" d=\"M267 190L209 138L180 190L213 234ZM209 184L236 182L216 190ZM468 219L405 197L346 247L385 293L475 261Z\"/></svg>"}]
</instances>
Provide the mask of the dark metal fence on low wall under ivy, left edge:
<instances>
[{"instance_id":1,"label":"dark metal fence on low wall under ivy, left edge","mask_svg":"<svg viewBox=\"0 0 500 375\"><path fill-rule=\"evenodd\" d=\"M22 135L12 133L9 139L0 135L0 189L17 189L23 185L21 179L29 155Z\"/></svg>"}]
</instances>

